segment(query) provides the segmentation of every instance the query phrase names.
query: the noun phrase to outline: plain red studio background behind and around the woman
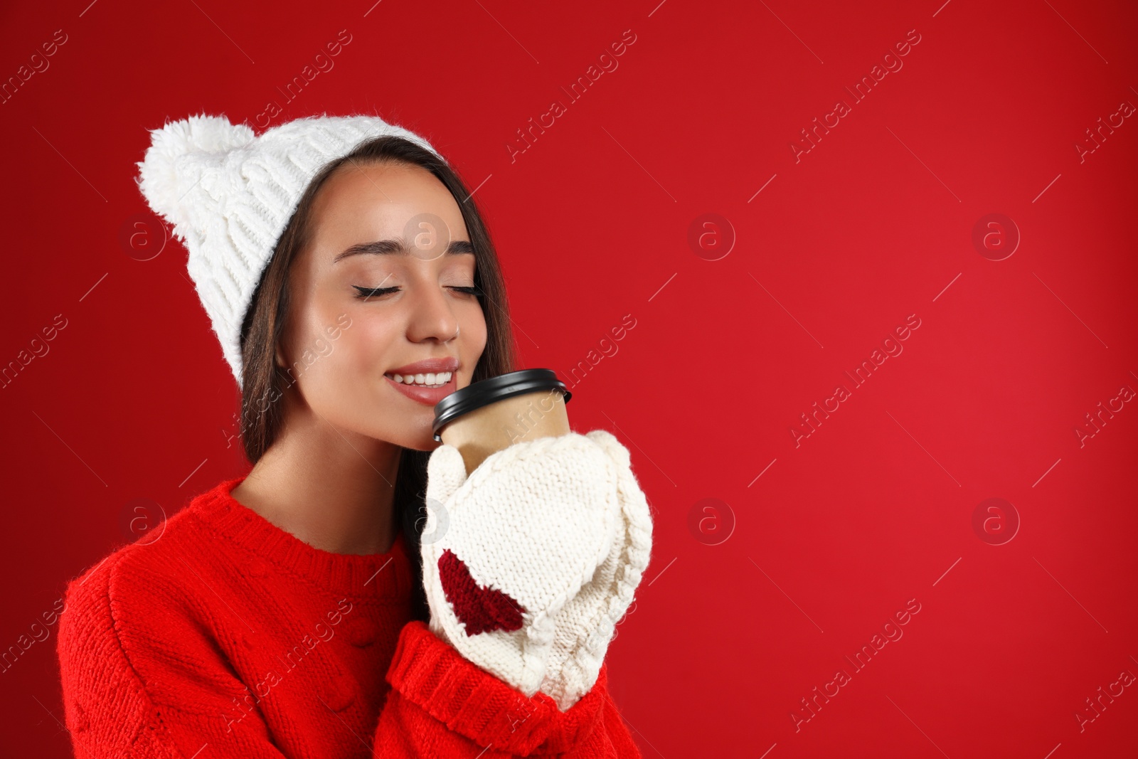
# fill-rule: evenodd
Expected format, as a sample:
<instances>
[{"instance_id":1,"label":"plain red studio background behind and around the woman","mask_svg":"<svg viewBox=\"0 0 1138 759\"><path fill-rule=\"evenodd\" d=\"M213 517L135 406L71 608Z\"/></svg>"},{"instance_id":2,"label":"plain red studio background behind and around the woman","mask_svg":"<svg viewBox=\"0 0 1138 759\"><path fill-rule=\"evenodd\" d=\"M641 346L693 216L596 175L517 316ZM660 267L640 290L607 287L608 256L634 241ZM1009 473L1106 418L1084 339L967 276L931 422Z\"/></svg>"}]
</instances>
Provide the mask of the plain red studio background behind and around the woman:
<instances>
[{"instance_id":1,"label":"plain red studio background behind and around the woman","mask_svg":"<svg viewBox=\"0 0 1138 759\"><path fill-rule=\"evenodd\" d=\"M272 125L379 114L480 187L525 365L617 348L569 413L625 442L657 517L609 653L645 757L1136 756L1135 687L1075 717L1138 675L1136 404L1074 432L1138 389L1136 118L1074 148L1138 105L1132 5L86 2L0 23L5 80L67 35L0 105L0 361L67 320L0 389L0 646L123 543L133 500L172 513L245 471L184 249L138 261L118 240L148 212L146 130L206 112L259 133L277 100ZM284 101L340 30L335 67ZM570 101L626 30L619 67ZM904 67L852 104L910 30ZM838 99L851 113L795 163ZM688 245L708 213L735 236L717 261ZM1022 236L1003 261L972 242L991 213ZM910 314L904 353L853 388L843 372ZM839 383L851 397L795 447ZM1001 545L973 529L992 497L1021 522ZM726 505L692 529L703 498ZM844 657L909 600L904 637L856 671ZM0 752L69 754L50 629L0 674ZM851 680L795 731L838 669Z\"/></svg>"}]
</instances>

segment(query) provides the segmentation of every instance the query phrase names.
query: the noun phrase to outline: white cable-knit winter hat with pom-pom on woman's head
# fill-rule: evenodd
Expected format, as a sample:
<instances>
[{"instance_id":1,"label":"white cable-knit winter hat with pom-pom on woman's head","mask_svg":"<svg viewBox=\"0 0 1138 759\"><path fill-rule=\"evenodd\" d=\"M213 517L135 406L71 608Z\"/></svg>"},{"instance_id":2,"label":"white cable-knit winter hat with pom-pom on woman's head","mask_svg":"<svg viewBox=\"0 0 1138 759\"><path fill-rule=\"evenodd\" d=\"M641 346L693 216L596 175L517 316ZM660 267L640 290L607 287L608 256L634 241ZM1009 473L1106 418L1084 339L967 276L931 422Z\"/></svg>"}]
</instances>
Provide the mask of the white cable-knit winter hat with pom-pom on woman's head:
<instances>
[{"instance_id":1,"label":"white cable-knit winter hat with pom-pom on woman's head","mask_svg":"<svg viewBox=\"0 0 1138 759\"><path fill-rule=\"evenodd\" d=\"M298 118L261 137L205 114L150 131L135 181L189 249L187 269L238 386L245 312L308 182L328 162L385 134L438 155L414 132L364 115Z\"/></svg>"}]
</instances>

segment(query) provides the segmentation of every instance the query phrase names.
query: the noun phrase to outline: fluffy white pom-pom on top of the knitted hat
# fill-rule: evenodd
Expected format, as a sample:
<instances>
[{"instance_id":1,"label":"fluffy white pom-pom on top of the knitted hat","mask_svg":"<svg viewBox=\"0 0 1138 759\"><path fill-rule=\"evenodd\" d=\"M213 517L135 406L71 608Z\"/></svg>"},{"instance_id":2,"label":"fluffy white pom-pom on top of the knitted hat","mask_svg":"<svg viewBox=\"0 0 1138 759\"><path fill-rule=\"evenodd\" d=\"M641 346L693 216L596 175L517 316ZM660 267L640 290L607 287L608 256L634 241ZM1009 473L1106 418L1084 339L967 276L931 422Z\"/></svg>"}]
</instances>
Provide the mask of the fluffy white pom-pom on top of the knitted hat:
<instances>
[{"instance_id":1,"label":"fluffy white pom-pom on top of the knitted hat","mask_svg":"<svg viewBox=\"0 0 1138 759\"><path fill-rule=\"evenodd\" d=\"M156 214L175 228L185 228L193 203L187 196L203 173L216 163L218 154L248 145L255 137L251 127L230 124L224 116L203 114L167 122L150 131L150 147L135 164L139 190Z\"/></svg>"}]
</instances>

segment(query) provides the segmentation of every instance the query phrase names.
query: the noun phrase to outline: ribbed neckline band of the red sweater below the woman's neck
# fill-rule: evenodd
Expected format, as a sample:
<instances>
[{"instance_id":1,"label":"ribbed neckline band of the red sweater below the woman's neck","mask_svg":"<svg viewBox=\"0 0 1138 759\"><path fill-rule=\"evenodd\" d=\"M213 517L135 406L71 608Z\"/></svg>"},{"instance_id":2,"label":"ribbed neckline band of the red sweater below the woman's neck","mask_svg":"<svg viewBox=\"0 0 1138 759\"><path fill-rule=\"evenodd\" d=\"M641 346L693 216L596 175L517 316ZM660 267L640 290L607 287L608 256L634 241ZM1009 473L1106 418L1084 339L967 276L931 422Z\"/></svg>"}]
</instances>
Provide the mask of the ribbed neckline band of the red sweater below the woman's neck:
<instances>
[{"instance_id":1,"label":"ribbed neckline band of the red sweater below the woman's neck","mask_svg":"<svg viewBox=\"0 0 1138 759\"><path fill-rule=\"evenodd\" d=\"M403 530L387 553L332 553L281 529L233 497L246 476L217 484L193 498L188 510L214 531L244 546L250 562L269 562L328 591L355 597L403 600L411 593L411 564Z\"/></svg>"}]
</instances>

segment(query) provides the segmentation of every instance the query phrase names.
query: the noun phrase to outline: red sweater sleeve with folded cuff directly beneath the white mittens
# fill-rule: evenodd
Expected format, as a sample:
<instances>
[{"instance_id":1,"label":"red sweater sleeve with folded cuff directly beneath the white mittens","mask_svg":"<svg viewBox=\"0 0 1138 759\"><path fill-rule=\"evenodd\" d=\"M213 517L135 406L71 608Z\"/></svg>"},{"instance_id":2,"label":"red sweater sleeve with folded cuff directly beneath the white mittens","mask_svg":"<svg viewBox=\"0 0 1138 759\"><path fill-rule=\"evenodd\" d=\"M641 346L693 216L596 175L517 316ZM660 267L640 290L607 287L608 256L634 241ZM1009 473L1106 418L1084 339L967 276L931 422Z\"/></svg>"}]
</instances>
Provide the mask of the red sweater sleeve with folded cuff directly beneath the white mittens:
<instances>
[{"instance_id":1,"label":"red sweater sleeve with folded cuff directly beneath the white mittens","mask_svg":"<svg viewBox=\"0 0 1138 759\"><path fill-rule=\"evenodd\" d=\"M544 693L526 696L464 659L426 622L407 622L387 673L391 685L376 757L558 756L640 759L608 693L608 667L568 711Z\"/></svg>"}]
</instances>

